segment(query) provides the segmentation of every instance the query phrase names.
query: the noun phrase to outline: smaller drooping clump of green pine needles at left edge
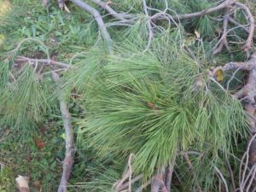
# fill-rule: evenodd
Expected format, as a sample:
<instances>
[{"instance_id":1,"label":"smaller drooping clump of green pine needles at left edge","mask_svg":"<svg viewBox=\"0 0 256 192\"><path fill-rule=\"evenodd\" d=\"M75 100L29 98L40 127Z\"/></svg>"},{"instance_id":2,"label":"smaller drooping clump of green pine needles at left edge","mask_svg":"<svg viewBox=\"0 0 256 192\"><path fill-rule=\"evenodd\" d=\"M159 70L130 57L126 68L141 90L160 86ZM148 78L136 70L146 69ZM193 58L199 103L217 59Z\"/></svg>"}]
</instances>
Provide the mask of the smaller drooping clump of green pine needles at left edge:
<instances>
[{"instance_id":1,"label":"smaller drooping clump of green pine needles at left edge","mask_svg":"<svg viewBox=\"0 0 256 192\"><path fill-rule=\"evenodd\" d=\"M3 74L5 81L6 77L15 79L15 75L9 75L10 72L5 67L3 73L5 73ZM1 86L1 125L14 127L35 125L42 122L44 115L49 112L50 89L46 80L41 82L30 66L23 67L18 73L19 76L15 81L12 79Z\"/></svg>"}]
</instances>

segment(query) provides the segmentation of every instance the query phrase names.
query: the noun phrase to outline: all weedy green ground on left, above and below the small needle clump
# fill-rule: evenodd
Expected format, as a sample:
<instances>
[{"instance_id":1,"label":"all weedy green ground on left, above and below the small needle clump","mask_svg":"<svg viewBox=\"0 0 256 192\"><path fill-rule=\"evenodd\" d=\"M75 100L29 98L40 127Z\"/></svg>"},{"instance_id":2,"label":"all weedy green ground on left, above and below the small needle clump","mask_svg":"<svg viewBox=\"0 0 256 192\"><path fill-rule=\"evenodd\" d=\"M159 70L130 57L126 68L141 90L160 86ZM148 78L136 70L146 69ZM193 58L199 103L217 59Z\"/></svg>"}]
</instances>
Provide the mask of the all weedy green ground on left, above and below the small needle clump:
<instances>
[{"instance_id":1,"label":"all weedy green ground on left, above and below the small needle clump","mask_svg":"<svg viewBox=\"0 0 256 192\"><path fill-rule=\"evenodd\" d=\"M73 55L86 49L83 31L86 16L76 10L71 17L58 9L57 4L47 10L39 1L0 0L0 52L15 49L22 39L38 38L48 46L52 59L69 61ZM44 58L42 47L38 45L26 44L22 49L26 49L24 55ZM32 191L55 191L61 178L61 160L65 155L64 130L57 123L60 117L50 117L52 121L45 122L38 129L20 127L17 131L1 127L1 192L15 191L15 177L18 175L29 179ZM26 134L24 130L27 130ZM83 163L76 165L73 174L77 168L84 170L83 167Z\"/></svg>"}]
</instances>

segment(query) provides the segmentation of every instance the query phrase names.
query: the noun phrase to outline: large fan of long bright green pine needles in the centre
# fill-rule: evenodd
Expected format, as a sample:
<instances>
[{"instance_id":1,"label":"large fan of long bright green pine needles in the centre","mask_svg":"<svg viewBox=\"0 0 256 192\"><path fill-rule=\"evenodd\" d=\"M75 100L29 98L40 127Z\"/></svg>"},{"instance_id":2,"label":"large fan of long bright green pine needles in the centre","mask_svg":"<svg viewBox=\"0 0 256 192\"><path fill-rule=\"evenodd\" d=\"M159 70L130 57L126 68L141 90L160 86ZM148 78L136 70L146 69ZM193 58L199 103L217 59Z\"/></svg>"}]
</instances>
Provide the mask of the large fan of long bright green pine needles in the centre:
<instances>
[{"instance_id":1,"label":"large fan of long bright green pine needles in the centre","mask_svg":"<svg viewBox=\"0 0 256 192\"><path fill-rule=\"evenodd\" d=\"M199 73L203 67L189 55L169 44L177 40L165 44L159 38L144 53L140 43L125 42L115 55L101 58L101 68L87 57L84 77L92 73L88 69L96 75L83 80L86 118L79 125L85 145L96 148L100 159L114 155L125 160L135 154L135 172L152 177L177 151L195 148L214 157L221 149L228 154L236 137L247 136L241 104L205 79ZM154 52L159 44L168 49ZM198 78L205 84L196 90Z\"/></svg>"}]
</instances>

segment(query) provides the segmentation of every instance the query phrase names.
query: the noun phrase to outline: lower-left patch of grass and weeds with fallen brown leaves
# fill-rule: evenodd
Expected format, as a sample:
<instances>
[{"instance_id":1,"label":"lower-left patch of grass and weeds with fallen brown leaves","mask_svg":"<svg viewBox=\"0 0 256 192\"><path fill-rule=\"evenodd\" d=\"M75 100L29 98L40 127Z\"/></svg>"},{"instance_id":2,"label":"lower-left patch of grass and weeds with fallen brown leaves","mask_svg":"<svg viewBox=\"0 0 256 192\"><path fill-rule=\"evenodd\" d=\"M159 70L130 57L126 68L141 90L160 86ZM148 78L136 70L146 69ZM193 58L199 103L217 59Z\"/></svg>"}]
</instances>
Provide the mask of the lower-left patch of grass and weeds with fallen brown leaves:
<instances>
[{"instance_id":1,"label":"lower-left patch of grass and weeds with fallen brown leaves","mask_svg":"<svg viewBox=\"0 0 256 192\"><path fill-rule=\"evenodd\" d=\"M0 190L15 191L15 177L22 175L29 178L31 190L55 191L64 152L60 131L59 126L42 125L38 131L27 132L24 137L18 131L10 131L9 127L1 129L0 159L4 167L0 170ZM45 145L41 150L35 143L37 137Z\"/></svg>"}]
</instances>

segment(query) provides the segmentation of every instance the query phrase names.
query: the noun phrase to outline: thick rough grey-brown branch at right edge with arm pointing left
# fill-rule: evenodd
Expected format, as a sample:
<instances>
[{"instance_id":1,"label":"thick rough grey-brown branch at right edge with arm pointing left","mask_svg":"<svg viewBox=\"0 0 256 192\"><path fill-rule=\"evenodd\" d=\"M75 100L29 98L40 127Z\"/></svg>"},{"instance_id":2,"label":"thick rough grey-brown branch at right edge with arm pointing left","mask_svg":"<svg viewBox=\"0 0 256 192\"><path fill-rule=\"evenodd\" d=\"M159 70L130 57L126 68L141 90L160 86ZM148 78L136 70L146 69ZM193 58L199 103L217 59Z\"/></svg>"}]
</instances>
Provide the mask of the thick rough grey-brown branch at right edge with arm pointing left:
<instances>
[{"instance_id":1,"label":"thick rough grey-brown branch at right edge with arm pointing left","mask_svg":"<svg viewBox=\"0 0 256 192\"><path fill-rule=\"evenodd\" d=\"M244 108L247 113L248 125L251 131L251 138L247 145L247 152L243 155L241 162L246 158L244 172L240 177L240 188L244 189L249 177L246 178L247 166L252 167L256 164L256 119L255 119L255 103L256 103L256 52L253 53L251 59L245 62L230 62L221 67L223 71L231 71L240 68L241 70L247 70L247 82L243 85L241 90L236 92L233 96L236 99L241 99ZM218 71L219 67L213 70L214 73ZM241 172L241 167L240 167ZM254 177L254 170L251 170ZM241 174L240 174L241 175ZM253 183L253 179L249 181L250 185ZM255 183L255 181L254 181ZM247 188L249 190L249 188ZM242 190L241 190L242 191Z\"/></svg>"}]
</instances>

